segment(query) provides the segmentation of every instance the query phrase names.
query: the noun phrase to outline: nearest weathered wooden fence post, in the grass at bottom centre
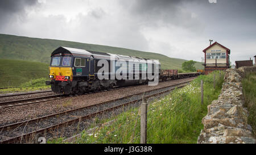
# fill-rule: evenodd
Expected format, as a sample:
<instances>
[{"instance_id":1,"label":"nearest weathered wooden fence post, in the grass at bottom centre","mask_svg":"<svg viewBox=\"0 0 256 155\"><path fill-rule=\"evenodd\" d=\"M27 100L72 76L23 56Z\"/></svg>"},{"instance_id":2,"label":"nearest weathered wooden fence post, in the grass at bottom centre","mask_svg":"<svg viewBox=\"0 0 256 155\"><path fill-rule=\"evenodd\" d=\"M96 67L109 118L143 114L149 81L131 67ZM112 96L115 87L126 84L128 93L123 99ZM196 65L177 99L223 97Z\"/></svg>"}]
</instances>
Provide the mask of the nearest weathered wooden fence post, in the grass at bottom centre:
<instances>
[{"instance_id":1,"label":"nearest weathered wooden fence post, in the grass at bottom centre","mask_svg":"<svg viewBox=\"0 0 256 155\"><path fill-rule=\"evenodd\" d=\"M141 144L147 144L147 103L141 104Z\"/></svg>"}]
</instances>

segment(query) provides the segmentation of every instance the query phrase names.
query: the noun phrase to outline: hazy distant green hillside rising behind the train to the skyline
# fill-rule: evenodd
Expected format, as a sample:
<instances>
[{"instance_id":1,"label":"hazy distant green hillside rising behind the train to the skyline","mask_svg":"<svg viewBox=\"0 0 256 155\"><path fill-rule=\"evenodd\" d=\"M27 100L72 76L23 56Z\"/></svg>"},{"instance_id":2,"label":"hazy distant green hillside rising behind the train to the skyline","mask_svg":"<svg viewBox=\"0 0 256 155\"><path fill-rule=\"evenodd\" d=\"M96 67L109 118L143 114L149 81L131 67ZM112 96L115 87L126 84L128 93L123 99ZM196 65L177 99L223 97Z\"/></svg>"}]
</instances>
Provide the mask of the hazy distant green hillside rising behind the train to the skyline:
<instances>
[{"instance_id":1,"label":"hazy distant green hillside rising behind the train to the skyline","mask_svg":"<svg viewBox=\"0 0 256 155\"><path fill-rule=\"evenodd\" d=\"M179 58L170 58L158 53L126 48L0 34L0 58L37 61L48 64L51 52L60 46L156 59L160 61L163 69L181 69L181 64L186 61ZM203 68L200 62L197 62L195 66L197 69Z\"/></svg>"}]
</instances>

